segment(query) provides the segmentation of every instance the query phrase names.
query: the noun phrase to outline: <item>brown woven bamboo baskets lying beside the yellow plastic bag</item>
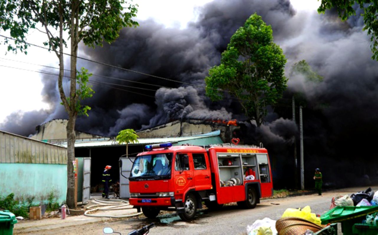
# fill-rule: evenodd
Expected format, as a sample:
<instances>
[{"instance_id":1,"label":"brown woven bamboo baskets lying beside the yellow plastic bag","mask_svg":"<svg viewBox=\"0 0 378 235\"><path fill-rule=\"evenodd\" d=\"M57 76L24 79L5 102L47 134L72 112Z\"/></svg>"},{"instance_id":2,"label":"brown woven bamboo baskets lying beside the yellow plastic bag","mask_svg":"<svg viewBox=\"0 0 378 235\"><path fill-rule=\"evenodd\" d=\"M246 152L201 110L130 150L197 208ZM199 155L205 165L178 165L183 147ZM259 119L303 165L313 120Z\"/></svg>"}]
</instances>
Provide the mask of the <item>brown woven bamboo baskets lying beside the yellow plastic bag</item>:
<instances>
[{"instance_id":1,"label":"brown woven bamboo baskets lying beside the yellow plastic bag","mask_svg":"<svg viewBox=\"0 0 378 235\"><path fill-rule=\"evenodd\" d=\"M279 235L300 235L305 233L307 229L318 232L323 227L302 218L285 217L277 220L276 229Z\"/></svg>"}]
</instances>

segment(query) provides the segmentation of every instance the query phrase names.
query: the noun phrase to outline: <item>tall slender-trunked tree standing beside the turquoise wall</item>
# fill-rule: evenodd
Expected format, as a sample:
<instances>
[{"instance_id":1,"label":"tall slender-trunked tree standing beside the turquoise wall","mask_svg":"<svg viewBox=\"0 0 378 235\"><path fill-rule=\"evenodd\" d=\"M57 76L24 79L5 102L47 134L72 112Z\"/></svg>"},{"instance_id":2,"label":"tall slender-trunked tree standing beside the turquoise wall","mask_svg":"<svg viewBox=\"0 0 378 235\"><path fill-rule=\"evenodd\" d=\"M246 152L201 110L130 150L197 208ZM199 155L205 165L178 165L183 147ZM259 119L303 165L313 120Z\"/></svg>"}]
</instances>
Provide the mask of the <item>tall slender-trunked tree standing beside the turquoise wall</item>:
<instances>
[{"instance_id":1,"label":"tall slender-trunked tree standing beside the turquoise wall","mask_svg":"<svg viewBox=\"0 0 378 235\"><path fill-rule=\"evenodd\" d=\"M130 0L131 1L131 0ZM6 39L8 51L20 50L26 54L29 44L25 41L30 29L38 29L46 35L44 44L59 59L58 87L60 99L68 114L67 124L67 205L75 207L74 200L74 143L75 122L78 114L86 114L88 106L81 106L82 98L90 97L86 85L86 70L76 71L77 50L80 42L90 47L111 43L119 36L122 27L137 26L132 20L137 5L127 0L0 0L0 29L9 31L16 41ZM42 26L38 28L37 26ZM42 29L42 30L41 30ZM66 33L64 33L66 32ZM64 93L64 47L70 44L70 92ZM77 78L77 75L79 78ZM84 79L84 80L83 80ZM77 84L79 90L77 91Z\"/></svg>"}]
</instances>

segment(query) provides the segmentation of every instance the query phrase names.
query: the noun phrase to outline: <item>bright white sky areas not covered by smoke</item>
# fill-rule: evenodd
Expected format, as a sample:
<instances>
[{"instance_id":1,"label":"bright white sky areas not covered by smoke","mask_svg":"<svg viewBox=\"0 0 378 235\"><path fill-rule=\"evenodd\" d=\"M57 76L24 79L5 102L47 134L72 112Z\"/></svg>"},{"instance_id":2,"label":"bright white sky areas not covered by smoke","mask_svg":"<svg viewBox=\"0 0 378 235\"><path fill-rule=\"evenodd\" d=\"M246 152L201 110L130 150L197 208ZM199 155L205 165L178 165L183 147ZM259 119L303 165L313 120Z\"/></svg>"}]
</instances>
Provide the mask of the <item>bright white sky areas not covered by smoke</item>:
<instances>
[{"instance_id":1,"label":"bright white sky areas not covered by smoke","mask_svg":"<svg viewBox=\"0 0 378 235\"><path fill-rule=\"evenodd\" d=\"M137 19L146 20L153 18L155 21L165 24L167 27L186 27L186 23L196 20L194 8L204 5L212 0L134 0L139 5ZM317 0L291 0L291 4L298 11L315 11L320 2ZM2 35L8 35L0 31ZM29 32L27 41L42 46L45 35L39 31ZM3 41L0 38L0 41ZM8 52L5 55L6 46L0 45L0 65L19 67L29 70L43 70L41 67L3 60L2 58L25 61L49 66L58 66L54 53L36 47L28 49L28 55L18 52L14 55ZM42 102L41 91L43 88L39 73L10 69L0 66L0 123L6 116L14 111L31 111L48 108Z\"/></svg>"}]
</instances>

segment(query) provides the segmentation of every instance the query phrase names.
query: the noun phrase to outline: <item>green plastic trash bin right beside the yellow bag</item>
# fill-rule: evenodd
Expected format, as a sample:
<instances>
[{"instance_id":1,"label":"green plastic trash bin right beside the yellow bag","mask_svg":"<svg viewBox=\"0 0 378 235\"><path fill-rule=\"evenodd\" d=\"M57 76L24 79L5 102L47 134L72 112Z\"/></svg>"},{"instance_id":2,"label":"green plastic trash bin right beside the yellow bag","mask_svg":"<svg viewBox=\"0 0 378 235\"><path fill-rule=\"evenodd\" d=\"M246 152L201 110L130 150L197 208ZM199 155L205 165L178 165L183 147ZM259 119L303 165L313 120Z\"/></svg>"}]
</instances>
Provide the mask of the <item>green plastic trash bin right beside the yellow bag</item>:
<instances>
[{"instance_id":1,"label":"green plastic trash bin right beside the yellow bag","mask_svg":"<svg viewBox=\"0 0 378 235\"><path fill-rule=\"evenodd\" d=\"M378 206L337 206L321 217L322 224L341 223L344 235L353 235L353 224L361 223L367 214L378 212Z\"/></svg>"}]
</instances>

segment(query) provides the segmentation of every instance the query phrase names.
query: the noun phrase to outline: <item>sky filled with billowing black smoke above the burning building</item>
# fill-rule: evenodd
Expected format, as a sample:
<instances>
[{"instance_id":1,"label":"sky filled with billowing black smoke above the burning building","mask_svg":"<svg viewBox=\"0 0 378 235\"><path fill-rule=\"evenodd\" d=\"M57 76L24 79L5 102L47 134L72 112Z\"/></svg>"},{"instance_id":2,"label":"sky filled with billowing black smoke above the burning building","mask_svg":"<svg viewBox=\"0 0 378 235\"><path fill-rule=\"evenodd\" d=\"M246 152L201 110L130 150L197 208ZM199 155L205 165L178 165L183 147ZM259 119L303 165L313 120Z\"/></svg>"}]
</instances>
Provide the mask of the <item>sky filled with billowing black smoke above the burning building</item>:
<instances>
[{"instance_id":1,"label":"sky filled with billowing black smoke above the burning building","mask_svg":"<svg viewBox=\"0 0 378 235\"><path fill-rule=\"evenodd\" d=\"M272 26L274 42L287 58L287 76L294 63L306 60L324 79L311 82L300 74L288 77L288 89L280 105L270 109L261 128L254 129L248 124L249 130L255 131L247 131L246 136L263 141L275 159L288 162L293 135L298 134L297 126L291 121L290 100L294 93L301 93L306 100L305 166L326 167L328 177L334 168L345 169L352 172L343 176L347 182L363 174L377 176L376 165L369 163L378 159L373 149L375 139L370 137L378 131L375 113L378 64L371 59L370 40L362 31L359 15L345 22L332 11L319 15L316 0L214 0L205 4L193 2L191 6L179 6L177 2L148 5L141 1L139 27L122 29L120 37L104 47L93 50L80 46L80 56L155 77L79 60L78 67L107 76L93 76L93 81L108 84L95 82L96 93L87 101L92 110L88 118L77 120L77 130L114 136L124 128L139 130L177 119L245 120L234 99L211 102L204 96L203 87L209 68L220 63L220 55L231 35L256 12ZM170 5L173 8L167 7ZM159 11L160 8L164 9ZM47 61L55 60L53 55L37 49L31 50L28 56L39 64L50 65ZM11 58L22 60L26 56ZM17 81L18 88L4 85L4 80L0 80L3 84L0 94L8 94L0 97L5 107L0 116L1 130L28 136L34 133L36 125L66 117L59 104L56 77L31 72L20 74L3 68L2 71L6 71L2 79ZM36 98L36 94L41 96ZM358 143L364 147L352 147ZM276 174L285 174L285 168L278 167L280 162L275 165ZM311 174L306 177L310 179Z\"/></svg>"}]
</instances>

